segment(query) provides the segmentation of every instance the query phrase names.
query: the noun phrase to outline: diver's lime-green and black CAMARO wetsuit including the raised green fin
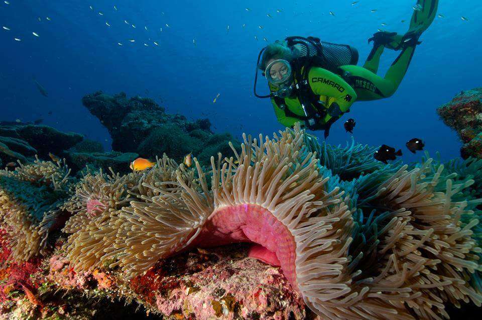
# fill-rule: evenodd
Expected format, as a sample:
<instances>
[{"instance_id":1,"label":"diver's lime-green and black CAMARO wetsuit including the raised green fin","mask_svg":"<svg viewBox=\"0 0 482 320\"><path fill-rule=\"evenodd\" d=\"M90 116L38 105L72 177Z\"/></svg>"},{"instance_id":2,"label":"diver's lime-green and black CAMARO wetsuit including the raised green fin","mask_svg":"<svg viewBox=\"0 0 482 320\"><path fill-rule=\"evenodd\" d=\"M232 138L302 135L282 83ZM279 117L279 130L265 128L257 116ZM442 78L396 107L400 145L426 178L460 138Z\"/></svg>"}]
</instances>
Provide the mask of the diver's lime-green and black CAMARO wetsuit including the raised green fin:
<instances>
[{"instance_id":1,"label":"diver's lime-green and black CAMARO wetsuit including the raised green fin","mask_svg":"<svg viewBox=\"0 0 482 320\"><path fill-rule=\"evenodd\" d=\"M418 37L425 31L435 18L438 0L417 0L421 10L414 11L410 21L409 31L404 35L380 32L382 38L389 36L389 41L372 38L374 47L363 67L357 65L341 66L340 74L335 74L320 67L311 67L308 72L308 83L313 96L319 96L319 101L311 98L312 106L322 118L318 120L316 129L329 129L329 126L342 114L331 117L327 111L333 103L339 105L341 113L349 110L355 100L367 101L382 99L395 93L402 82L412 60ZM376 36L375 34L374 36ZM371 39L371 40L372 40ZM401 52L388 69L385 77L377 75L380 57L385 48L400 50ZM277 88L270 84L271 91ZM297 97L271 98L278 122L286 127L292 127L297 122L306 120L305 113ZM281 108L280 108L281 107ZM327 132L325 131L325 136Z\"/></svg>"}]
</instances>

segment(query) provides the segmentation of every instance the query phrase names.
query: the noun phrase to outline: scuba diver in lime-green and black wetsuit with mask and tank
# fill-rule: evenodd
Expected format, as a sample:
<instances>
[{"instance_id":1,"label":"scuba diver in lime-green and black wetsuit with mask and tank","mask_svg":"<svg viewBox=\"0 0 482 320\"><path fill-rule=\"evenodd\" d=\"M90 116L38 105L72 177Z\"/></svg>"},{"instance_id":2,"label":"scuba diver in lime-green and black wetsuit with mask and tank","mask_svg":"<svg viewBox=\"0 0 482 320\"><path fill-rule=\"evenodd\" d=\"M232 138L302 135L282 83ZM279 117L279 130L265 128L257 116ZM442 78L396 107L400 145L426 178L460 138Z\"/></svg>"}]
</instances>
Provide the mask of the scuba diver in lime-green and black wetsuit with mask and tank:
<instances>
[{"instance_id":1,"label":"scuba diver in lime-green and black wetsuit with mask and tank","mask_svg":"<svg viewBox=\"0 0 482 320\"><path fill-rule=\"evenodd\" d=\"M314 37L288 37L263 48L258 56L254 91L270 97L278 122L295 123L311 130L324 130L354 101L382 99L397 90L407 72L420 35L435 18L438 0L418 0L405 35L377 32L369 39L373 49L363 67L357 66L358 52L348 45L332 44ZM377 75L384 49L400 54L385 77ZM263 55L263 56L262 56ZM262 56L262 57L261 57ZM261 60L261 61L260 61ZM270 94L256 92L258 69L268 80Z\"/></svg>"}]
</instances>

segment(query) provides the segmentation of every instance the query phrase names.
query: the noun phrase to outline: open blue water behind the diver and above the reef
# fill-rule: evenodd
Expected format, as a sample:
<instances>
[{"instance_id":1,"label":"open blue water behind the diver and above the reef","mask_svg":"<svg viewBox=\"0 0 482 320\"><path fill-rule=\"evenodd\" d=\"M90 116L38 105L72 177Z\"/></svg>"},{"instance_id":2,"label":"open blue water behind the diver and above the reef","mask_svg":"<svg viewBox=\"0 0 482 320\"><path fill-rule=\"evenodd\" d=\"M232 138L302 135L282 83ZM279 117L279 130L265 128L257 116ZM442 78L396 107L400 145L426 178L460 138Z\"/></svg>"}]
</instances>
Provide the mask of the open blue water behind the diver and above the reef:
<instances>
[{"instance_id":1,"label":"open blue water behind the diver and above the reef","mask_svg":"<svg viewBox=\"0 0 482 320\"><path fill-rule=\"evenodd\" d=\"M406 32L416 3L9 2L0 3L0 26L11 29L0 29L0 120L43 118L46 125L102 142L106 150L110 149L107 131L81 103L87 93L125 91L128 96L148 96L169 113L181 113L188 119L208 117L215 132L271 136L283 127L277 123L270 101L253 96L256 59L268 44L263 37L272 42L290 35L311 35L350 44L359 50L359 64L363 64L371 49L367 39L379 28ZM372 13L373 9L377 11ZM354 118L357 142L402 148L406 161L422 156L405 148L413 137L424 140L426 150L431 154L439 151L443 159L459 156L455 132L438 119L435 110L460 90L482 86L482 8L475 0L441 1L438 12L444 18L436 18L422 35L423 43L398 91L387 99L355 102L351 112L333 125L330 143L344 145L350 139L343 122ZM22 41L15 41L16 37ZM395 57L395 52L386 50L379 74L384 74ZM40 94L33 76L46 88L48 97ZM260 91L267 89L263 80ZM316 134L322 139L322 132Z\"/></svg>"}]
</instances>

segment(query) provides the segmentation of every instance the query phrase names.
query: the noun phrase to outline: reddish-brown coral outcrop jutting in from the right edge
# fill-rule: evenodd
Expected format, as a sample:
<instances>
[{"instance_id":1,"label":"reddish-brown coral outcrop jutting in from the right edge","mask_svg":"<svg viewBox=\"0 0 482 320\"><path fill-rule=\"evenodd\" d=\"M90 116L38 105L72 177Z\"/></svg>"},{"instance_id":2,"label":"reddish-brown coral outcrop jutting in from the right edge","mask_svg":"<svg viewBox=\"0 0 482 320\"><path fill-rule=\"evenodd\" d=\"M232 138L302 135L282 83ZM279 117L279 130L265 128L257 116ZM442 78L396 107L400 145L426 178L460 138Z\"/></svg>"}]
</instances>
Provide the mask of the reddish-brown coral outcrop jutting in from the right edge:
<instances>
[{"instance_id":1,"label":"reddish-brown coral outcrop jutting in from the right edge","mask_svg":"<svg viewBox=\"0 0 482 320\"><path fill-rule=\"evenodd\" d=\"M463 144L462 158L482 158L482 88L461 91L452 101L441 105L437 113L457 132Z\"/></svg>"}]
</instances>

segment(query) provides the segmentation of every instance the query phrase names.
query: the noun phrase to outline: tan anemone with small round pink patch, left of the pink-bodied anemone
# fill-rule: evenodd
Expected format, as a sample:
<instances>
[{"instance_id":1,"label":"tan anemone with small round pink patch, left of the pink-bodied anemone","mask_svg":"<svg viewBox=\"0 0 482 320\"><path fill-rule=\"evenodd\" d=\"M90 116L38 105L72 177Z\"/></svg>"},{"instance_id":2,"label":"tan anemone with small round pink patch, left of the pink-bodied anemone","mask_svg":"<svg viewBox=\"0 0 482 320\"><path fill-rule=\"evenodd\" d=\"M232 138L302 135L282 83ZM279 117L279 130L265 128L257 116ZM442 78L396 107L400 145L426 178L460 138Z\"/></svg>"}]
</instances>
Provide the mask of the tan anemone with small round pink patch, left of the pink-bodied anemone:
<instances>
[{"instance_id":1,"label":"tan anemone with small round pink patch, left of the pink-bodied anemone","mask_svg":"<svg viewBox=\"0 0 482 320\"><path fill-rule=\"evenodd\" d=\"M65 244L67 258L74 271L88 271L104 261L105 252L113 248L116 228L112 221L119 209L134 197L129 193L137 187L140 175L108 175L100 169L87 174L75 187L75 194L63 205L72 216L63 232L71 234Z\"/></svg>"}]
</instances>

